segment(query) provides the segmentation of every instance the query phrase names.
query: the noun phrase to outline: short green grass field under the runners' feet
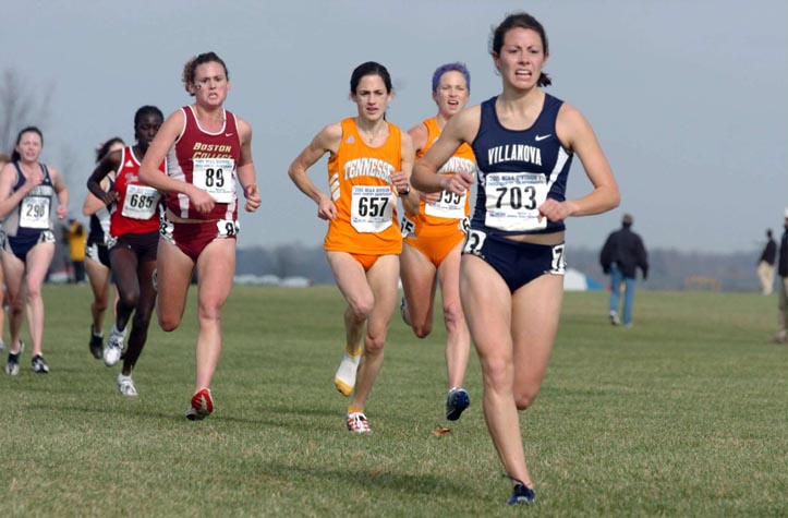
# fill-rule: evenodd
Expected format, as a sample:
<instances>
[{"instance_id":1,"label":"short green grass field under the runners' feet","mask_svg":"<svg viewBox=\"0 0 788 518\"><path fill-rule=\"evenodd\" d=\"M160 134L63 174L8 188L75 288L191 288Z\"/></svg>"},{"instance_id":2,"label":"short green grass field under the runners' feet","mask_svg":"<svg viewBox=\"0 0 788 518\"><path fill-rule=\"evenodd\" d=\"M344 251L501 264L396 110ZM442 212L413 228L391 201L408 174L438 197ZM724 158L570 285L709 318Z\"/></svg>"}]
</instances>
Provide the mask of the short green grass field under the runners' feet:
<instances>
[{"instance_id":1,"label":"short green grass field under the runners' feet","mask_svg":"<svg viewBox=\"0 0 788 518\"><path fill-rule=\"evenodd\" d=\"M202 422L184 419L193 299L177 332L151 325L140 397L123 398L118 366L87 350L89 289L46 286L45 298L51 373L32 373L28 348L17 377L0 375L0 517L788 516L774 297L640 291L623 329L607 324L604 292L567 293L543 390L521 417L537 503L519 508L504 505L475 353L471 408L451 434L432 433L447 425L439 322L420 341L396 315L366 408L374 433L354 436L331 382L334 287L234 289L217 411Z\"/></svg>"}]
</instances>

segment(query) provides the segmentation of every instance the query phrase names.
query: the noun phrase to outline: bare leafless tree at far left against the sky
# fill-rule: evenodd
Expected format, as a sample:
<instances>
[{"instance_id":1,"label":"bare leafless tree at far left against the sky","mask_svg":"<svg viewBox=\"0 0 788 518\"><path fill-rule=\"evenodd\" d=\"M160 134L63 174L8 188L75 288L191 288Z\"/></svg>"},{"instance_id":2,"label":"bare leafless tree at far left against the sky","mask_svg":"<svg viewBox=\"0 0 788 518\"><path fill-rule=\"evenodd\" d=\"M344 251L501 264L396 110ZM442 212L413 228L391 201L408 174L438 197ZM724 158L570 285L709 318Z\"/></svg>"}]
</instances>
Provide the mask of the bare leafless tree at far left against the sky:
<instances>
[{"instance_id":1,"label":"bare leafless tree at far left against the sky","mask_svg":"<svg viewBox=\"0 0 788 518\"><path fill-rule=\"evenodd\" d=\"M0 75L0 152L11 153L19 131L36 125L41 131L49 120L53 86L36 88L14 69ZM45 132L46 133L46 132Z\"/></svg>"}]
</instances>

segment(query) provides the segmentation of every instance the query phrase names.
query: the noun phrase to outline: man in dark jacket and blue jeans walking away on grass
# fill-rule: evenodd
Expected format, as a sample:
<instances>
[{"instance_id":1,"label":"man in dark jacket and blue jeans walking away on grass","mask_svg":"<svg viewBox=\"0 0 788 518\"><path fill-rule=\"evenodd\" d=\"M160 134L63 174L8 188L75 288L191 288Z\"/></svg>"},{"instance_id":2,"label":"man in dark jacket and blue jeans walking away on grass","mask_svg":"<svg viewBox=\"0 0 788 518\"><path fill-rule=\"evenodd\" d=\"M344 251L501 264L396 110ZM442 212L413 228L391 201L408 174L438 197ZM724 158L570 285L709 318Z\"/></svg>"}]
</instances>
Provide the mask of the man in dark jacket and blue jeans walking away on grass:
<instances>
[{"instance_id":1,"label":"man in dark jacket and blue jeans walking away on grass","mask_svg":"<svg viewBox=\"0 0 788 518\"><path fill-rule=\"evenodd\" d=\"M610 275L610 324L615 326L621 323L618 320L621 285L625 288L622 322L625 326L630 327L632 325L637 268L643 272L643 280L648 277L648 257L643 240L630 230L632 221L632 216L625 214L621 229L607 237L599 254L602 269L605 274Z\"/></svg>"}]
</instances>

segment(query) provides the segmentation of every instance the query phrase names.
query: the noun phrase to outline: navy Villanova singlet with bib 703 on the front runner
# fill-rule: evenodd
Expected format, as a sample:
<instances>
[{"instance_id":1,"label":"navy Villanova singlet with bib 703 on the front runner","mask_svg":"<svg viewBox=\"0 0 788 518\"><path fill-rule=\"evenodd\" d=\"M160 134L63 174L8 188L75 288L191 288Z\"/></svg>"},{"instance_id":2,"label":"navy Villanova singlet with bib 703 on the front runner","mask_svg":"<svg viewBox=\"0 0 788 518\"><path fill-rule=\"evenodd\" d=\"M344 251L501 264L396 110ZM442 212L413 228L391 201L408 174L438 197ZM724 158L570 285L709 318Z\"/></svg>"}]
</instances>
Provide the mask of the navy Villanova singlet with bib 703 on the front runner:
<instances>
[{"instance_id":1,"label":"navy Villanova singlet with bib 703 on the front runner","mask_svg":"<svg viewBox=\"0 0 788 518\"><path fill-rule=\"evenodd\" d=\"M493 97L482 103L478 134L472 144L478 189L471 228L498 236L563 230L563 221L538 220L545 200L566 200L572 155L556 135L563 101L545 94L536 121L521 131L501 125L495 101Z\"/></svg>"}]
</instances>

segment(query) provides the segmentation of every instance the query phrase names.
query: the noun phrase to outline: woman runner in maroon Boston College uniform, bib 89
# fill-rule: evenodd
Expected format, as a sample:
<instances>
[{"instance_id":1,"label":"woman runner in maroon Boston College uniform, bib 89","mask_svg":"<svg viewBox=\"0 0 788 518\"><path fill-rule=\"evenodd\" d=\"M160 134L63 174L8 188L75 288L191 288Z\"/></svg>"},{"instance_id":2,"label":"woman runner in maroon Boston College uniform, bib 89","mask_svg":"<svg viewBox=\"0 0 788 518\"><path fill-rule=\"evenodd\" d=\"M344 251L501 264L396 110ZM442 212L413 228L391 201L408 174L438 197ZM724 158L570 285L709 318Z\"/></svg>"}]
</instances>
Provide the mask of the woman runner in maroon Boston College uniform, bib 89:
<instances>
[{"instance_id":1,"label":"woman runner in maroon Boston College uniform, bib 89","mask_svg":"<svg viewBox=\"0 0 788 518\"><path fill-rule=\"evenodd\" d=\"M197 273L196 380L186 418L214 411L210 381L221 353L221 308L235 273L238 197L245 209L260 205L252 162L252 127L225 110L230 89L225 62L214 52L190 59L183 70L195 103L167 118L140 168L140 179L165 193L167 210L156 261L160 300L156 313L166 332L181 323L194 269ZM167 158L167 174L158 165Z\"/></svg>"}]
</instances>

